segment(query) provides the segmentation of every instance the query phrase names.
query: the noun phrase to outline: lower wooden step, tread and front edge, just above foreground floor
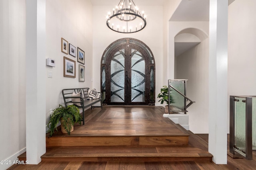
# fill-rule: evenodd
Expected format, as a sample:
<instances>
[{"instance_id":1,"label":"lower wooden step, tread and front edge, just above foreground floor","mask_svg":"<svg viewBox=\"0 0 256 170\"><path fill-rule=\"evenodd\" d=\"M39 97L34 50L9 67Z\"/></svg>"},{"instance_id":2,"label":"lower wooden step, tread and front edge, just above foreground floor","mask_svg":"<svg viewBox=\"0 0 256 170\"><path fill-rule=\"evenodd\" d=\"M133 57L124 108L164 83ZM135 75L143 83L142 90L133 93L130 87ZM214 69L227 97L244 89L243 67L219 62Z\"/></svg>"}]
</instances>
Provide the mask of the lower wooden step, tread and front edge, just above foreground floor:
<instances>
[{"instance_id":1,"label":"lower wooden step, tread and front edge, just above foreground floor","mask_svg":"<svg viewBox=\"0 0 256 170\"><path fill-rule=\"evenodd\" d=\"M212 161L212 154L194 147L49 147L42 161Z\"/></svg>"}]
</instances>

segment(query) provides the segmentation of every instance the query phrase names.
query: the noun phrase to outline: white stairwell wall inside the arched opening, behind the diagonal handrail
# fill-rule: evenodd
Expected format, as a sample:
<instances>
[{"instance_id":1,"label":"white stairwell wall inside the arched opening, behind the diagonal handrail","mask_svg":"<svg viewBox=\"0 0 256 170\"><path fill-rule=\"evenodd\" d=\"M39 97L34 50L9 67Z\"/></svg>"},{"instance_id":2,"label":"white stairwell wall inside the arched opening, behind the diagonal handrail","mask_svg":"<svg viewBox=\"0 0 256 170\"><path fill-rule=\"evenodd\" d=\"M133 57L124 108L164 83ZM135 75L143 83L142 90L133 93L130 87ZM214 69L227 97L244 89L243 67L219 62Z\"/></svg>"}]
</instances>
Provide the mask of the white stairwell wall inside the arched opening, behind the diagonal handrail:
<instances>
[{"instance_id":1,"label":"white stairwell wall inside the arched opening, behind the diagonal handrail","mask_svg":"<svg viewBox=\"0 0 256 170\"><path fill-rule=\"evenodd\" d=\"M176 57L176 79L187 79L187 96L196 103L188 107L193 133L208 133L209 39Z\"/></svg>"}]
</instances>

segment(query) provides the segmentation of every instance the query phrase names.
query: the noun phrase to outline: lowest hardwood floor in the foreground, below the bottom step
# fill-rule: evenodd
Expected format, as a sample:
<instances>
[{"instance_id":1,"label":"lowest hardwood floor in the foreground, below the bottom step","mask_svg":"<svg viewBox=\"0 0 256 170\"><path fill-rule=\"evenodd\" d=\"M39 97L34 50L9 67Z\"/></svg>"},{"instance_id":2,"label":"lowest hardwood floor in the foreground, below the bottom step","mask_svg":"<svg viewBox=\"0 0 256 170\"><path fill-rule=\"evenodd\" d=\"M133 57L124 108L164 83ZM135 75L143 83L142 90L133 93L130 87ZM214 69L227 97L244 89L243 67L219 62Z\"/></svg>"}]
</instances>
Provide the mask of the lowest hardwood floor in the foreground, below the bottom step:
<instances>
[{"instance_id":1,"label":"lowest hardwood floor in the foreground, below the bottom step","mask_svg":"<svg viewBox=\"0 0 256 170\"><path fill-rule=\"evenodd\" d=\"M255 157L254 153L254 157ZM8 170L255 170L255 160L232 159L228 164L213 162L40 162L38 165L13 165Z\"/></svg>"}]
</instances>

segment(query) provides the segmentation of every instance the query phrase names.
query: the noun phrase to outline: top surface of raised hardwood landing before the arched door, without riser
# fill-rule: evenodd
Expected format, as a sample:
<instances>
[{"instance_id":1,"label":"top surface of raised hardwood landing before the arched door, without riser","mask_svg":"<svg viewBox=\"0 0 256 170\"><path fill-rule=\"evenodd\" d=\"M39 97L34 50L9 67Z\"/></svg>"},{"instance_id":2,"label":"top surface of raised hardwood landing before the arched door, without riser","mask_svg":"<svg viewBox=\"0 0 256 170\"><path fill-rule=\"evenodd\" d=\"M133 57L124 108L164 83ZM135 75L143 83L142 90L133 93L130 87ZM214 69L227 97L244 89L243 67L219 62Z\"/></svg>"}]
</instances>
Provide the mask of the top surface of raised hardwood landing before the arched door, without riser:
<instances>
[{"instance_id":1,"label":"top surface of raised hardwood landing before the arched door, without riser","mask_svg":"<svg viewBox=\"0 0 256 170\"><path fill-rule=\"evenodd\" d=\"M70 136L188 136L170 119L164 118L164 108L155 106L104 106L88 109L85 125L76 124ZM55 137L68 136L61 131ZM69 136L68 136L69 137Z\"/></svg>"}]
</instances>

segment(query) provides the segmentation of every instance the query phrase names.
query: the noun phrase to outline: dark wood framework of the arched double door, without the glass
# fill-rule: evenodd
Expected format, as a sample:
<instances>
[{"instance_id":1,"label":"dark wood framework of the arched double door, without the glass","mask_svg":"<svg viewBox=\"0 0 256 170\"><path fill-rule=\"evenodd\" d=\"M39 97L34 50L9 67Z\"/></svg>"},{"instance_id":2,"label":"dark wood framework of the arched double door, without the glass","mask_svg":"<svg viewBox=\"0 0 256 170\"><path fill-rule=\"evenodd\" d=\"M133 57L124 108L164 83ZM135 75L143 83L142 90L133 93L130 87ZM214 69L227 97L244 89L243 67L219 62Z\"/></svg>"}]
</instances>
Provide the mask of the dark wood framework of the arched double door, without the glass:
<instances>
[{"instance_id":1,"label":"dark wood framework of the arched double door, without the glass","mask_svg":"<svg viewBox=\"0 0 256 170\"><path fill-rule=\"evenodd\" d=\"M113 44L113 43L112 43ZM116 52L118 52L121 49L125 49L125 68L124 68L124 76L125 77L125 86L124 86L124 100L125 102L111 102L111 61L112 58L114 57L114 55L116 54ZM132 57L132 53L131 53L131 49L135 49L137 51L139 51L142 54L142 58L145 61L145 102L132 102L131 100L131 76L132 76L132 63L131 63L131 57ZM105 51L106 52L106 51ZM150 51L151 52L151 51ZM152 54L152 53L151 53ZM105 64L101 65L101 68L105 68L105 72L106 72L106 80L105 80L105 100L104 103L109 104L109 105L154 105L155 101L152 101L152 99L150 100L150 83L151 83L151 79L150 79L150 72L151 72L151 67L154 67L154 62L153 64L150 64L149 61L149 57L148 57L148 53L145 51L145 49L143 49L142 47L140 47L139 45L136 44L130 44L129 43L129 39L127 39L127 43L126 44L122 44L122 45L118 45L117 47L114 47L113 49L111 49L110 52L108 52L108 55L105 56L106 61ZM102 70L101 70L102 72ZM155 68L153 70L154 72L154 86L155 86ZM101 76L101 85L102 85L102 76ZM101 89L102 90L102 89ZM102 90L103 91L103 90ZM154 95L154 99L155 99L155 95Z\"/></svg>"}]
</instances>

